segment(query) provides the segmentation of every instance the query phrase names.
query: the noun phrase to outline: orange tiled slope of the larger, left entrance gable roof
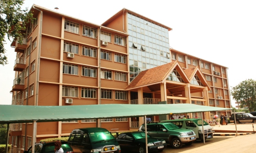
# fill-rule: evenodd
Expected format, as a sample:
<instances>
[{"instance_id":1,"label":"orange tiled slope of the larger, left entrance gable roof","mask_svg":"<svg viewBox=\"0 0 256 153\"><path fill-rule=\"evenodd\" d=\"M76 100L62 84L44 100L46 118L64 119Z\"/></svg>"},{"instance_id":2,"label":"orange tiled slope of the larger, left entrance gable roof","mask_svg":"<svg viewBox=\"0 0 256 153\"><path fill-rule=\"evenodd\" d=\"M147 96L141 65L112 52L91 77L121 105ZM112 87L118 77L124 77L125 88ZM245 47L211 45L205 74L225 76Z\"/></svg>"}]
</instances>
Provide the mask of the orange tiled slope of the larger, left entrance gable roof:
<instances>
[{"instance_id":1,"label":"orange tiled slope of the larger, left entrance gable roof","mask_svg":"<svg viewBox=\"0 0 256 153\"><path fill-rule=\"evenodd\" d=\"M141 71L125 89L162 81L175 63L176 61Z\"/></svg>"}]
</instances>

